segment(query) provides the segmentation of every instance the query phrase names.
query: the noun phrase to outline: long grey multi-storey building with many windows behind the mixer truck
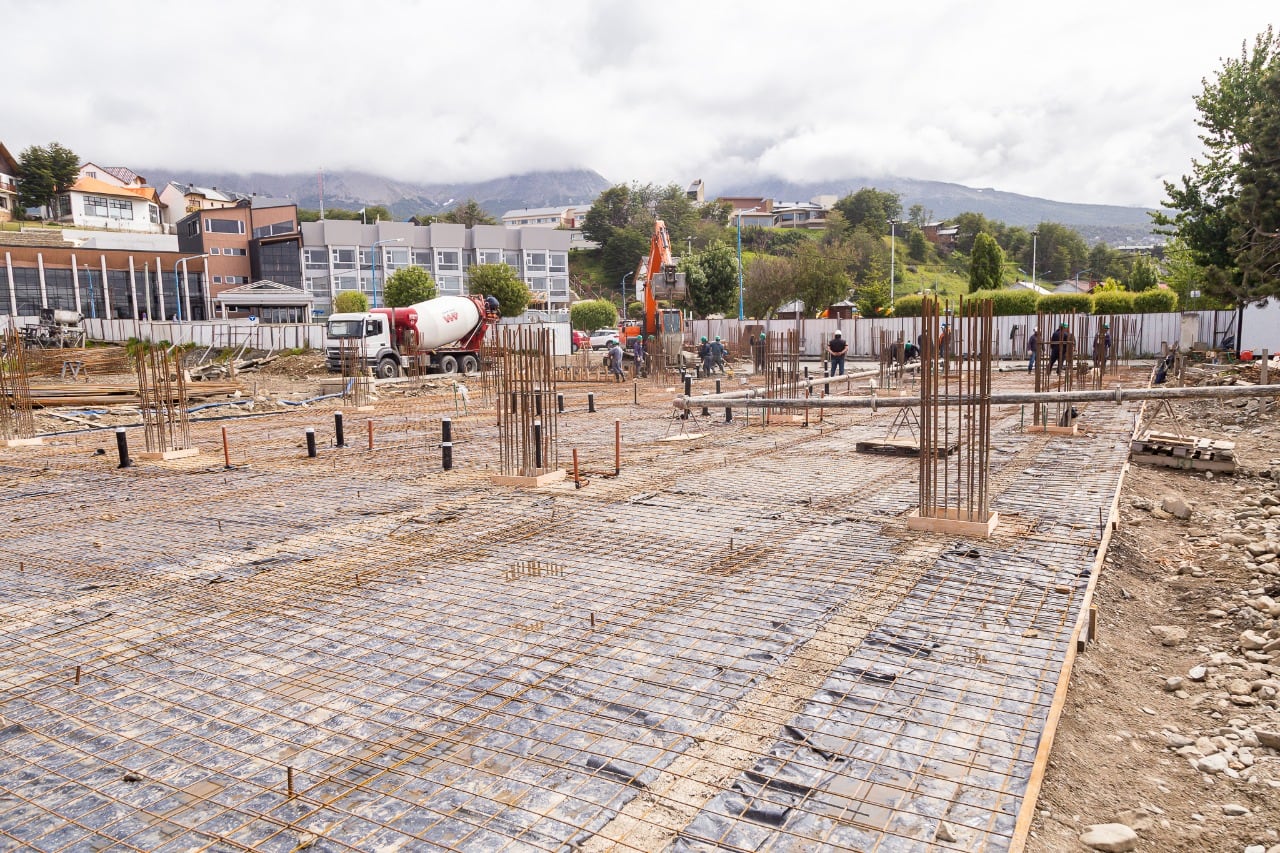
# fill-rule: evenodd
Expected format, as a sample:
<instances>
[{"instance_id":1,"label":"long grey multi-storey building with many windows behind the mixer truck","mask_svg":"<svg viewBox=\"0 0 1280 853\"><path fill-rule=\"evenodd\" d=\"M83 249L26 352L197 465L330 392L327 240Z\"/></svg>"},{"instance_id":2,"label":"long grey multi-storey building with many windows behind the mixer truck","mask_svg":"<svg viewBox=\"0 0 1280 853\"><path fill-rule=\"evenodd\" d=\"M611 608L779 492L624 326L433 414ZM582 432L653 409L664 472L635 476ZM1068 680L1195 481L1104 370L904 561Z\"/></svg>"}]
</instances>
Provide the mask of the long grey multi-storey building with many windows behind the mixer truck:
<instances>
[{"instance_id":1,"label":"long grey multi-storey building with many windows behind the mixer truck","mask_svg":"<svg viewBox=\"0 0 1280 853\"><path fill-rule=\"evenodd\" d=\"M428 270L442 296L461 296L468 292L470 268L508 264L529 286L535 305L567 307L568 247L570 232L534 225L302 223L302 286L317 311L326 311L340 291L358 289L376 306L387 277L406 266Z\"/></svg>"}]
</instances>

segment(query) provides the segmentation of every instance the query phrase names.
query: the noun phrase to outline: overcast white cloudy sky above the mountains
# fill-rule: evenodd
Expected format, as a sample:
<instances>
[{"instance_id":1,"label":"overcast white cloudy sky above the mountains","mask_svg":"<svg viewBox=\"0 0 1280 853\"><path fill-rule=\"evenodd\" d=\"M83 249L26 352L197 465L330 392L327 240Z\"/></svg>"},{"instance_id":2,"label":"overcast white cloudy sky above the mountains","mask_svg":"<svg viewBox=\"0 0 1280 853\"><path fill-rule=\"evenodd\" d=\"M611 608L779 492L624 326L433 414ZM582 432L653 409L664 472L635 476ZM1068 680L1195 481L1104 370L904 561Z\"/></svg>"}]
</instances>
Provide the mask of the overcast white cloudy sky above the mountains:
<instances>
[{"instance_id":1,"label":"overcast white cloudy sky above the mountains","mask_svg":"<svg viewBox=\"0 0 1280 853\"><path fill-rule=\"evenodd\" d=\"M476 181L899 175L1155 205L1275 0L0 0L0 141Z\"/></svg>"}]
</instances>

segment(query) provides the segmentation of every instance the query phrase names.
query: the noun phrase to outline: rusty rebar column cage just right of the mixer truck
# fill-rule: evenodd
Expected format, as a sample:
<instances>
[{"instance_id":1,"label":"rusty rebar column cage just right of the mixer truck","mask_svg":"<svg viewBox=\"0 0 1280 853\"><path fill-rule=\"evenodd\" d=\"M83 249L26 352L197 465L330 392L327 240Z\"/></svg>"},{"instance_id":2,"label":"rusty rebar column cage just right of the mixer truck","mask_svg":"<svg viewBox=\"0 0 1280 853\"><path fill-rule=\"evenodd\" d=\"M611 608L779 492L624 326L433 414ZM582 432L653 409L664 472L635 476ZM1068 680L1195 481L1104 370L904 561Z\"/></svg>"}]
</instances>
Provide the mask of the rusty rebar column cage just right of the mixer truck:
<instances>
[{"instance_id":1,"label":"rusty rebar column cage just right of the mixer truck","mask_svg":"<svg viewBox=\"0 0 1280 853\"><path fill-rule=\"evenodd\" d=\"M559 467L556 369L550 329L500 329L499 466L504 476L540 476Z\"/></svg>"}]
</instances>

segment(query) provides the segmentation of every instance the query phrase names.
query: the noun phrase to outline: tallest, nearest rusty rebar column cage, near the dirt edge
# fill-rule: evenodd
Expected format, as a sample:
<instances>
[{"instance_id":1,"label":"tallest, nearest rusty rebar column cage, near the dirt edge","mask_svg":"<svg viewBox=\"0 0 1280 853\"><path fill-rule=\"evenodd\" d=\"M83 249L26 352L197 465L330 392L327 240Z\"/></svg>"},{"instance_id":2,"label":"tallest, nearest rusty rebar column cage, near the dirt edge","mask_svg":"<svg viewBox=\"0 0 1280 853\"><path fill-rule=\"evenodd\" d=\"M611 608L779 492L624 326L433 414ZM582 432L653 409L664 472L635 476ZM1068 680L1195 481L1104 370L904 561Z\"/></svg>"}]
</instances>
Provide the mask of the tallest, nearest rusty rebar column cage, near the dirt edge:
<instances>
[{"instance_id":1,"label":"tallest, nearest rusty rebar column cage, near the dirt edge","mask_svg":"<svg viewBox=\"0 0 1280 853\"><path fill-rule=\"evenodd\" d=\"M984 523L989 516L991 300L960 301L942 352L938 341L945 316L938 302L924 301L919 515ZM952 448L959 450L954 457Z\"/></svg>"}]
</instances>

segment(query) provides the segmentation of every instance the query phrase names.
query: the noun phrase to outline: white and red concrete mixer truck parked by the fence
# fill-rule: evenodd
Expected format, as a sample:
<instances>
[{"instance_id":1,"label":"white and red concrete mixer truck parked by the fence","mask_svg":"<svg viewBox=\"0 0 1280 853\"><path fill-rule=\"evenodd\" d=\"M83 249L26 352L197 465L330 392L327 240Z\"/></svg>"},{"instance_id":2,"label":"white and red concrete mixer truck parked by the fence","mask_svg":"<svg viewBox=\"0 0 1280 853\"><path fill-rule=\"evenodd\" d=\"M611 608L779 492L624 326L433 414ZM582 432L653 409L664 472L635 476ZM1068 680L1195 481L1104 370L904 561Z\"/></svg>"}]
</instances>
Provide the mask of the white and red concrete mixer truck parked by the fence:
<instances>
[{"instance_id":1,"label":"white and red concrete mixer truck parked by the fence","mask_svg":"<svg viewBox=\"0 0 1280 853\"><path fill-rule=\"evenodd\" d=\"M362 348L365 364L381 379L398 377L402 369L475 373L480 345L497 321L497 300L479 296L439 296L408 307L330 314L325 364L338 373L343 356L358 357Z\"/></svg>"}]
</instances>

